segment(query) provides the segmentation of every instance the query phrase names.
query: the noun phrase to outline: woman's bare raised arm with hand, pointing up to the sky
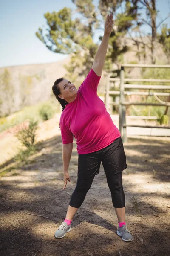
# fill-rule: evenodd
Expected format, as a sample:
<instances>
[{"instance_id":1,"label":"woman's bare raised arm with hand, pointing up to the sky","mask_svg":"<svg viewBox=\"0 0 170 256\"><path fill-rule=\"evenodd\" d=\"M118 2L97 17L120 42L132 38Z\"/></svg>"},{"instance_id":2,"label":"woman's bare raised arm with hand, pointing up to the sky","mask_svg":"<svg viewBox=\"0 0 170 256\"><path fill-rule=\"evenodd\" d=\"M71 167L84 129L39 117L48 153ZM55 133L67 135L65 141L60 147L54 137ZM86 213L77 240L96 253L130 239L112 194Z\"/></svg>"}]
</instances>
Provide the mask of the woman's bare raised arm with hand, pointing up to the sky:
<instances>
[{"instance_id":1,"label":"woman's bare raised arm with hand, pointing up to the sky","mask_svg":"<svg viewBox=\"0 0 170 256\"><path fill-rule=\"evenodd\" d=\"M109 36L111 35L112 28L113 15L108 15L105 21L105 31L102 38L102 42L99 46L99 49L96 52L94 64L92 65L92 69L94 70L97 76L101 76L102 74L102 69L105 63L105 57L108 49Z\"/></svg>"}]
</instances>

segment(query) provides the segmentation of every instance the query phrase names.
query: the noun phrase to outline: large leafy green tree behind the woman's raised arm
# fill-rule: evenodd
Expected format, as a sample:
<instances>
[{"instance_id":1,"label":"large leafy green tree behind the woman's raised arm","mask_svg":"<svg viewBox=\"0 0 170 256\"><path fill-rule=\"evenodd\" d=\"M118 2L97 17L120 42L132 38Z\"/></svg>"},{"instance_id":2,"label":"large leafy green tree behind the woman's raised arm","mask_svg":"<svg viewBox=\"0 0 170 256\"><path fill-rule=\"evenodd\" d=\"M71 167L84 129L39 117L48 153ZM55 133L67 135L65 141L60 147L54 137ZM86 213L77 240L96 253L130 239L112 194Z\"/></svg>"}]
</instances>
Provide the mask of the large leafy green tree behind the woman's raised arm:
<instances>
[{"instance_id":1,"label":"large leafy green tree behind the woman's raised arm","mask_svg":"<svg viewBox=\"0 0 170 256\"><path fill-rule=\"evenodd\" d=\"M82 19L73 20L71 9L63 8L59 12L48 12L44 15L47 20L47 29L39 28L37 37L53 51L63 54L71 54L70 65L65 65L69 76L76 79L77 75L86 75L94 61L94 56L98 44L94 42L94 31L104 29L104 19L109 10L115 13L125 4L125 10L116 15L116 29L112 32L109 41L109 51L105 69L110 69L111 64L119 63L123 53L129 50L122 38L127 30L133 26L136 16L136 6L134 0L100 0L98 10L93 1L87 0L86 4L82 0L72 0L77 9L75 12L82 15ZM133 3L134 2L134 3ZM100 37L100 40L102 37ZM81 71L80 71L81 70ZM73 80L72 80L73 81Z\"/></svg>"}]
</instances>

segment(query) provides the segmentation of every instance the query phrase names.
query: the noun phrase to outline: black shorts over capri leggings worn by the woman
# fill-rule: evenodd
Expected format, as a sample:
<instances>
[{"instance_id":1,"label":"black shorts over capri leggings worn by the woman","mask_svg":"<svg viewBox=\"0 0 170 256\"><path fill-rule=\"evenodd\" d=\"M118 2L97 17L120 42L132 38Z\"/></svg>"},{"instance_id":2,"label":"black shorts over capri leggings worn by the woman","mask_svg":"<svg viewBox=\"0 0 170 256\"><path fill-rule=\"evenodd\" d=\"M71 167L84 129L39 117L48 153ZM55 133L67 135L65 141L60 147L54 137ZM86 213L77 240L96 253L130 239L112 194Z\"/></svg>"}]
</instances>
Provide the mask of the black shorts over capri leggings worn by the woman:
<instances>
[{"instance_id":1,"label":"black shorts over capri leggings worn by the woman","mask_svg":"<svg viewBox=\"0 0 170 256\"><path fill-rule=\"evenodd\" d=\"M111 190L113 206L115 208L125 207L122 171L127 168L127 164L121 137L99 151L79 154L77 185L71 195L70 206L79 208L82 205L94 176L99 174L101 162L105 170L108 187Z\"/></svg>"}]
</instances>

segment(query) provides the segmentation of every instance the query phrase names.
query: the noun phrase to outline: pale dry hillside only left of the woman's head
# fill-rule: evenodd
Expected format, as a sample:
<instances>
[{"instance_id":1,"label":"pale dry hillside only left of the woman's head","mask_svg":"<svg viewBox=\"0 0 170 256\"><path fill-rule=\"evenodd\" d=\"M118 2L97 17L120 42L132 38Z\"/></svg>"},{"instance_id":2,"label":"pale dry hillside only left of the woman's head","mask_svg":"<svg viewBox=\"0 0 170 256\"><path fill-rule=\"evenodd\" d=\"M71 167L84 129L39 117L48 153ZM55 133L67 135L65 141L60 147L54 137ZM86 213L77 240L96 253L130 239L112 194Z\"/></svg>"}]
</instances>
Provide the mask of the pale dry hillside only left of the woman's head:
<instances>
[{"instance_id":1,"label":"pale dry hillside only left of the woman's head","mask_svg":"<svg viewBox=\"0 0 170 256\"><path fill-rule=\"evenodd\" d=\"M54 81L65 76L64 64L70 57L55 63L29 64L0 68L0 114L14 113L23 106L48 100Z\"/></svg>"}]
</instances>

